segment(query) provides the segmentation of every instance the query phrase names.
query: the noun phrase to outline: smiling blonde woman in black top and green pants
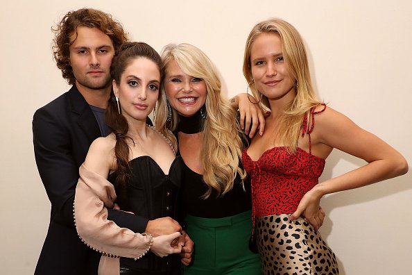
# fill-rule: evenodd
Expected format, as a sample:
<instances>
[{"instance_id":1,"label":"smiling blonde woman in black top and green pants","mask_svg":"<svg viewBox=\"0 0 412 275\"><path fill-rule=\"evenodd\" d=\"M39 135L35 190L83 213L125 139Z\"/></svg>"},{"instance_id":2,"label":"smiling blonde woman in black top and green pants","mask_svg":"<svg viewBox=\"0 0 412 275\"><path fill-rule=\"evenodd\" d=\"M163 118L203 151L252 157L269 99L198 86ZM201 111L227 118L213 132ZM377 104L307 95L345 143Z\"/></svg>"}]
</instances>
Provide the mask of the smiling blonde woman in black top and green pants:
<instances>
[{"instance_id":1,"label":"smiling blonde woman in black top and green pants","mask_svg":"<svg viewBox=\"0 0 412 275\"><path fill-rule=\"evenodd\" d=\"M167 100L157 106L155 124L178 138L186 164L180 209L195 243L184 274L261 274L259 255L248 247L252 204L236 110L221 96L216 68L203 51L169 44L162 60Z\"/></svg>"}]
</instances>

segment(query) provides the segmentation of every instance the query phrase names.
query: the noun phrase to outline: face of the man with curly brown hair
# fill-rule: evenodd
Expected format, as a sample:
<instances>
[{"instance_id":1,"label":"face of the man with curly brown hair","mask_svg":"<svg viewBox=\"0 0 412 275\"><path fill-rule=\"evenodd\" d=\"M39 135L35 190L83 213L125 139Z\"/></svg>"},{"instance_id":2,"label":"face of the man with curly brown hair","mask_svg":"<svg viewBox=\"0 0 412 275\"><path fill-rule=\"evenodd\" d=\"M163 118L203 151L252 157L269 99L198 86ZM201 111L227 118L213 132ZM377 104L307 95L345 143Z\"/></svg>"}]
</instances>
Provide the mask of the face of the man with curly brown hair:
<instances>
[{"instance_id":1,"label":"face of the man with curly brown hair","mask_svg":"<svg viewBox=\"0 0 412 275\"><path fill-rule=\"evenodd\" d=\"M111 85L113 42L98 28L78 26L71 35L70 65L78 89L101 90Z\"/></svg>"}]
</instances>

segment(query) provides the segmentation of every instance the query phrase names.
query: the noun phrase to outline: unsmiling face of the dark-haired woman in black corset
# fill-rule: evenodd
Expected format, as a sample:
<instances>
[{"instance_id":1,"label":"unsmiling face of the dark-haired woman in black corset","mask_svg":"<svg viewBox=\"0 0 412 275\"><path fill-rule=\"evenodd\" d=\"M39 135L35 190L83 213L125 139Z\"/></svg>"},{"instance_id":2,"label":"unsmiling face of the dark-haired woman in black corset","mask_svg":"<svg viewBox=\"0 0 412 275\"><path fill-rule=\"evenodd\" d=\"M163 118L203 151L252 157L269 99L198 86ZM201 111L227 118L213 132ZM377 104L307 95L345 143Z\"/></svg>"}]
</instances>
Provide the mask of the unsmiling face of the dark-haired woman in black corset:
<instances>
[{"instance_id":1,"label":"unsmiling face of the dark-haired woman in black corset","mask_svg":"<svg viewBox=\"0 0 412 275\"><path fill-rule=\"evenodd\" d=\"M144 57L132 59L121 74L120 83L113 81L113 92L119 97L121 113L128 121L146 117L159 97L160 71L156 63Z\"/></svg>"}]
</instances>

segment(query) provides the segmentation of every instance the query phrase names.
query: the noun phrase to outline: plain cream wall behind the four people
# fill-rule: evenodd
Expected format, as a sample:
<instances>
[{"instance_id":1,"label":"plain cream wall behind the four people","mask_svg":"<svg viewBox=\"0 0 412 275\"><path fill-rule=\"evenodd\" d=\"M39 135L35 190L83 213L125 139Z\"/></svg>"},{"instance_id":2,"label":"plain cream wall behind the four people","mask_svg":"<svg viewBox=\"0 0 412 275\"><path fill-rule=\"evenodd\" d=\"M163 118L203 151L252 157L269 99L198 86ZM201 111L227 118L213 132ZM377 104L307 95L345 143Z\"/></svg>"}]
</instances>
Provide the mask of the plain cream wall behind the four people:
<instances>
[{"instance_id":1,"label":"plain cream wall behind the four people","mask_svg":"<svg viewBox=\"0 0 412 275\"><path fill-rule=\"evenodd\" d=\"M67 91L51 55L50 27L83 6L110 12L132 40L160 51L189 42L214 61L229 96L244 92L241 64L250 28L291 22L309 52L321 99L375 133L412 163L412 3L393 1L7 1L0 11L0 273L33 274L49 201L33 157L31 119ZM363 165L334 151L322 178ZM321 228L341 274L410 274L411 173L329 195Z\"/></svg>"}]
</instances>

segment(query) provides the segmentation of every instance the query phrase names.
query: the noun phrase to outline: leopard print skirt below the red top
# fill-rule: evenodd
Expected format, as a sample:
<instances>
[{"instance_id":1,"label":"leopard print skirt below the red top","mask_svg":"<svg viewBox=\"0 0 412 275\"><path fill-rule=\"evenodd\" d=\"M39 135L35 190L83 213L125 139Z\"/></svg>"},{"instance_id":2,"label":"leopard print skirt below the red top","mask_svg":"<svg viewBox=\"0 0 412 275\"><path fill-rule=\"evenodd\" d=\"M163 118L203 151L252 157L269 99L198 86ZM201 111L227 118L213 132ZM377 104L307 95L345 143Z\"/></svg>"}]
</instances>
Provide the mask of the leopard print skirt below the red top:
<instances>
[{"instance_id":1,"label":"leopard print skirt below the red top","mask_svg":"<svg viewBox=\"0 0 412 275\"><path fill-rule=\"evenodd\" d=\"M334 252L303 218L257 217L255 236L263 274L339 274Z\"/></svg>"}]
</instances>

